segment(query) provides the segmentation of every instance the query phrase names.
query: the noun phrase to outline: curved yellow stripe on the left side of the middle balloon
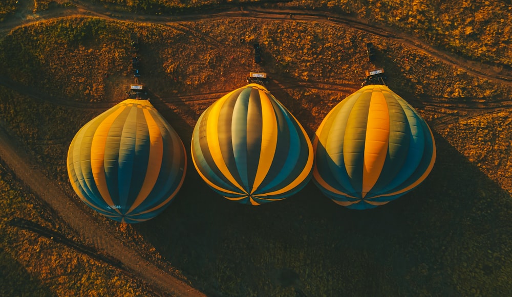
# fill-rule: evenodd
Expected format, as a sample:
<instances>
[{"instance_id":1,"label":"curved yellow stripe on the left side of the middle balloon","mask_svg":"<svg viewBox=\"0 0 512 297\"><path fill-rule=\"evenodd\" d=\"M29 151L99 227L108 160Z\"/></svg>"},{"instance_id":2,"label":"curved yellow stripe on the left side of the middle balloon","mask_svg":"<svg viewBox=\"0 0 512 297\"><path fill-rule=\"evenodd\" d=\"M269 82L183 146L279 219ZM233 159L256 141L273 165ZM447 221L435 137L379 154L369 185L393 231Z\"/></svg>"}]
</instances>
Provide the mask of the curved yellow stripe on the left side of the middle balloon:
<instances>
[{"instance_id":1,"label":"curved yellow stripe on the left side of the middle balloon","mask_svg":"<svg viewBox=\"0 0 512 297\"><path fill-rule=\"evenodd\" d=\"M224 105L228 98L229 96L226 95L210 107L211 110L208 115L208 122L206 123L206 138L208 140L208 149L210 151L211 157L214 159L215 165L217 166L217 168L219 168L222 174L224 174L224 176L231 182L231 184L240 189L242 193L248 194L244 190L244 188L240 186L237 180L234 179L231 172L229 172L226 162L222 157L221 147L219 143L219 113L222 108L222 105Z\"/></svg>"}]
</instances>

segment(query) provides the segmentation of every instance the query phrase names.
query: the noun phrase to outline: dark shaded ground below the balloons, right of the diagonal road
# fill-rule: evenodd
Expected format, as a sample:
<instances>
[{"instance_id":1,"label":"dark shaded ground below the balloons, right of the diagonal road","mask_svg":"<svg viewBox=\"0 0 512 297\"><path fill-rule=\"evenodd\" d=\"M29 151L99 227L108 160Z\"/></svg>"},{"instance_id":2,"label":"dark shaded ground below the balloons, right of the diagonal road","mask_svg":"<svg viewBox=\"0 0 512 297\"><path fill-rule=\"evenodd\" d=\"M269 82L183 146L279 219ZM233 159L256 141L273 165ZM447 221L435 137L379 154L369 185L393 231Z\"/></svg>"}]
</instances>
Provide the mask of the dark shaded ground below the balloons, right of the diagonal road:
<instances>
[{"instance_id":1,"label":"dark shaded ground below the balloons, right of the diagonal road","mask_svg":"<svg viewBox=\"0 0 512 297\"><path fill-rule=\"evenodd\" d=\"M241 205L190 162L173 204L134 227L213 296L506 295L512 199L435 139L430 176L376 209L339 207L312 182L284 201Z\"/></svg>"}]
</instances>

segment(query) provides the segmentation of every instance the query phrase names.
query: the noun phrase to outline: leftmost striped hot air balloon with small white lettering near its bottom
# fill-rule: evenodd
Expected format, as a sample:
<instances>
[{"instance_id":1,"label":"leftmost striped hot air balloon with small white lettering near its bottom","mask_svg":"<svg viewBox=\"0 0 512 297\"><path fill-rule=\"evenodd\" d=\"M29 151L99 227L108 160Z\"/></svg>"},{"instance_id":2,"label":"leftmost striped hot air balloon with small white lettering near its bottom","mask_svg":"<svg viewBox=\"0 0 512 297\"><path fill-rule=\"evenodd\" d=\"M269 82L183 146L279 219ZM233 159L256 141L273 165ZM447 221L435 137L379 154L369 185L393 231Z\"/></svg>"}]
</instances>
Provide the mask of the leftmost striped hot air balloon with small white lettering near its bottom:
<instances>
[{"instance_id":1,"label":"leftmost striped hot air balloon with small white lettering near its bottom","mask_svg":"<svg viewBox=\"0 0 512 297\"><path fill-rule=\"evenodd\" d=\"M84 125L68 150L73 189L93 210L137 223L161 213L186 171L176 131L147 100L127 99Z\"/></svg>"}]
</instances>

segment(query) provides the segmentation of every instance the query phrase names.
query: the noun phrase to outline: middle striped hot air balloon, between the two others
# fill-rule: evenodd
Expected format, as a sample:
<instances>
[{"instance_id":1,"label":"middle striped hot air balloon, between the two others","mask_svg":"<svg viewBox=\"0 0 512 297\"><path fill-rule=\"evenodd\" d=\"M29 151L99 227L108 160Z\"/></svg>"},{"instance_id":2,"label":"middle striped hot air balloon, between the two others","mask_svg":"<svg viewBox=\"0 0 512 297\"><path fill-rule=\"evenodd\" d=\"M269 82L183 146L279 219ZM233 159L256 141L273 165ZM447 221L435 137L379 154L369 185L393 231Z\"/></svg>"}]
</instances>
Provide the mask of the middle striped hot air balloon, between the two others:
<instances>
[{"instance_id":1,"label":"middle striped hot air balloon, between the two others","mask_svg":"<svg viewBox=\"0 0 512 297\"><path fill-rule=\"evenodd\" d=\"M313 166L306 131L259 84L234 90L202 113L191 153L210 188L252 205L298 192L309 181Z\"/></svg>"}]
</instances>

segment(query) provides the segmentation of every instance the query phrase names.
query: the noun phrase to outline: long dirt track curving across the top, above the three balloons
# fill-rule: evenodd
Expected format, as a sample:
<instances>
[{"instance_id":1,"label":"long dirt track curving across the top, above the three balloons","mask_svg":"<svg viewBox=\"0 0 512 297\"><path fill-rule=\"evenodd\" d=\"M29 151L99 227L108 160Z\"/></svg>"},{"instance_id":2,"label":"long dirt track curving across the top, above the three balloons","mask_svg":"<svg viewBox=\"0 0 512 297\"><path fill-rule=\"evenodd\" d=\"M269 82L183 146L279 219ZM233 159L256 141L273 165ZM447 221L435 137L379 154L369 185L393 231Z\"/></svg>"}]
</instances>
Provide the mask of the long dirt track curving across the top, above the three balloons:
<instances>
[{"instance_id":1,"label":"long dirt track curving across the top, above the three balloons","mask_svg":"<svg viewBox=\"0 0 512 297\"><path fill-rule=\"evenodd\" d=\"M353 18L350 16L344 16L339 14L333 14L325 11L314 11L314 10L295 10L295 9L265 9L261 10L258 8L245 6L244 9L240 7L233 7L230 10L224 10L221 12L210 12L210 13L196 13L196 14L185 14L185 15L143 15L129 12L112 12L108 9L93 5L86 4L79 0L70 0L75 7L67 9L59 9L55 13L52 11L45 11L38 15L38 19L35 21L23 22L23 20L5 21L0 24L0 32L14 30L19 26L30 26L36 22L62 17L62 16L96 16L110 20L122 20L130 22L141 22L141 23L154 23L154 24L180 24L182 22L197 22L204 20L218 20L225 18L253 18L253 19L268 19L268 20L281 20L281 21L316 21L316 22L328 22L331 24L343 25L381 37L386 37L397 42L408 45L409 47L420 50L430 56L433 56L440 61L461 68L462 70L471 73L475 76L485 78L494 82L512 85L512 71L507 71L505 75L496 73L490 67L492 65L484 64L476 61L469 61L463 59L454 54L447 53L438 50L431 45L421 41L418 38L411 37L403 34L397 30L391 28L385 28L383 26L371 25L367 22L361 21L360 19ZM292 16L290 18L290 16ZM20 25L20 23L22 23ZM205 37L206 38L206 37ZM499 65L506 66L506 65Z\"/></svg>"}]
</instances>

